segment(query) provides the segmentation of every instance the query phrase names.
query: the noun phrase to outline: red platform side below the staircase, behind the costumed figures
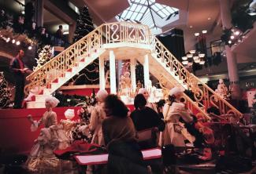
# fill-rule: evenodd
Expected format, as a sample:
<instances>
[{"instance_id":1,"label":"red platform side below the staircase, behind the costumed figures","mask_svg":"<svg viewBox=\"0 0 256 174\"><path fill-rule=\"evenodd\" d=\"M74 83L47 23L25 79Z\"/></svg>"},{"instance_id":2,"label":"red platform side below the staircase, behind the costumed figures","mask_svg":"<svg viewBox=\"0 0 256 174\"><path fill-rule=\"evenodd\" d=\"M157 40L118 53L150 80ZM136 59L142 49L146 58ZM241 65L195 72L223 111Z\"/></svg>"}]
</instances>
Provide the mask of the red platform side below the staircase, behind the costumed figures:
<instances>
[{"instance_id":1,"label":"red platform side below the staircase, behind the costumed figures","mask_svg":"<svg viewBox=\"0 0 256 174\"><path fill-rule=\"evenodd\" d=\"M133 106L128 107L133 110ZM65 119L64 112L67 109L75 109L76 114L80 107L55 107L54 111L57 113L58 121ZM39 130L31 132L31 124L27 116L32 114L34 120L39 120L45 111L45 108L0 110L0 151L8 154L29 153L34 140L39 135ZM73 119L77 118L76 115Z\"/></svg>"}]
</instances>

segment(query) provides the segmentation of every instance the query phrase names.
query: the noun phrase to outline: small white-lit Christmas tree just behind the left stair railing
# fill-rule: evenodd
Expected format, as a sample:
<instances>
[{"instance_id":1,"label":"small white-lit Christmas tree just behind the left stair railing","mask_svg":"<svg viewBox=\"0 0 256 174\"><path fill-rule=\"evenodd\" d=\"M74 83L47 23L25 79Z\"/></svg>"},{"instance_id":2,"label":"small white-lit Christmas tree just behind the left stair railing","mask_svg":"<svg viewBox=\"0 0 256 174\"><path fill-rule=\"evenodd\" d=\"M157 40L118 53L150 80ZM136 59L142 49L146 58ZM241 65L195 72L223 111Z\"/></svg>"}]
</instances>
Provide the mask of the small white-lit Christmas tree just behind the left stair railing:
<instances>
[{"instance_id":1,"label":"small white-lit Christmas tree just behind the left stair railing","mask_svg":"<svg viewBox=\"0 0 256 174\"><path fill-rule=\"evenodd\" d=\"M53 58L50 45L45 45L42 51L39 53L39 59L36 59L37 66L33 67L33 70L36 71L39 67L42 67L46 62Z\"/></svg>"}]
</instances>

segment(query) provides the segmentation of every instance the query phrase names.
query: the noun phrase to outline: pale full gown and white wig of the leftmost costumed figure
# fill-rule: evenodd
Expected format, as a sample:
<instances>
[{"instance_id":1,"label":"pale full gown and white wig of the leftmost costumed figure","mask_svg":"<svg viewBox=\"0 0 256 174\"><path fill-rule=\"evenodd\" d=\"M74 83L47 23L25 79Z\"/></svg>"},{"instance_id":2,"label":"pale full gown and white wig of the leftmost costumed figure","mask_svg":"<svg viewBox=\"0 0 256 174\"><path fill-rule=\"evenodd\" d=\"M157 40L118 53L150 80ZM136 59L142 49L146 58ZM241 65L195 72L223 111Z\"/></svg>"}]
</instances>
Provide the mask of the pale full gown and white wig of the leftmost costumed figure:
<instances>
[{"instance_id":1,"label":"pale full gown and white wig of the leftmost costumed figure","mask_svg":"<svg viewBox=\"0 0 256 174\"><path fill-rule=\"evenodd\" d=\"M46 100L50 100L53 107L58 104L56 103L57 99L52 96ZM57 115L54 111L46 111L39 121L32 121L32 131L38 129L41 124L45 128L40 130L25 167L28 172L59 173L61 172L61 161L55 157L53 152L69 147L69 139L62 129L62 125L58 125Z\"/></svg>"}]
</instances>

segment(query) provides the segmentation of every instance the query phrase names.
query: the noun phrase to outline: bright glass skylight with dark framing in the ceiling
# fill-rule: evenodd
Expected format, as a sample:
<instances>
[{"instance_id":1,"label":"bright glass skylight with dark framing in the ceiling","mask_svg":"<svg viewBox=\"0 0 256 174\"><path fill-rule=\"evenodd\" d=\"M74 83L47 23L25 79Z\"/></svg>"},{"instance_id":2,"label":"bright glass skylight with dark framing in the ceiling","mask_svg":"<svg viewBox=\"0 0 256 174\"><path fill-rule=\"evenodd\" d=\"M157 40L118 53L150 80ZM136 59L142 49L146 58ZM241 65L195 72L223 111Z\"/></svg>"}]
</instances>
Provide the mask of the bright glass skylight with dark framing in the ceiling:
<instances>
[{"instance_id":1,"label":"bright glass skylight with dark framing in the ceiling","mask_svg":"<svg viewBox=\"0 0 256 174\"><path fill-rule=\"evenodd\" d=\"M155 0L128 0L130 6L116 16L119 21L148 25L154 34L161 34L161 27L179 19L179 9L161 5Z\"/></svg>"}]
</instances>

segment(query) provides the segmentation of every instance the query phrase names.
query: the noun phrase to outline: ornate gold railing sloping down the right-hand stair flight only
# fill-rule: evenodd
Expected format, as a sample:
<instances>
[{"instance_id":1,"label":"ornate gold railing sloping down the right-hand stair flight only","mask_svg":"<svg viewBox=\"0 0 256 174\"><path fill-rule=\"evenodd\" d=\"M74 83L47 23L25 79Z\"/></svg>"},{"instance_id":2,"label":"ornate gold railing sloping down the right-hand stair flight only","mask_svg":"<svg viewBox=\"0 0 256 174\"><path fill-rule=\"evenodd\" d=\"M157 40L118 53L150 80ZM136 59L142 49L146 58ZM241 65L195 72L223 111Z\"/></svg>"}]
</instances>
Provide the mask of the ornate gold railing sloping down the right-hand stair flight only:
<instances>
[{"instance_id":1,"label":"ornate gold railing sloping down the right-hand stair flight only","mask_svg":"<svg viewBox=\"0 0 256 174\"><path fill-rule=\"evenodd\" d=\"M187 85L187 89L194 93L193 100L195 101L191 100L191 102L195 103L196 107L203 108L205 113L209 107L217 107L221 114L234 114L239 118L243 116L243 114L228 103L227 100L224 100L214 92L213 89L210 89L208 85L201 82L194 74L187 71L186 67L184 67L154 35L151 36L150 44L153 46L152 55L154 55L163 66L167 67L169 71L173 72L174 76L176 76L181 83Z\"/></svg>"}]
</instances>

